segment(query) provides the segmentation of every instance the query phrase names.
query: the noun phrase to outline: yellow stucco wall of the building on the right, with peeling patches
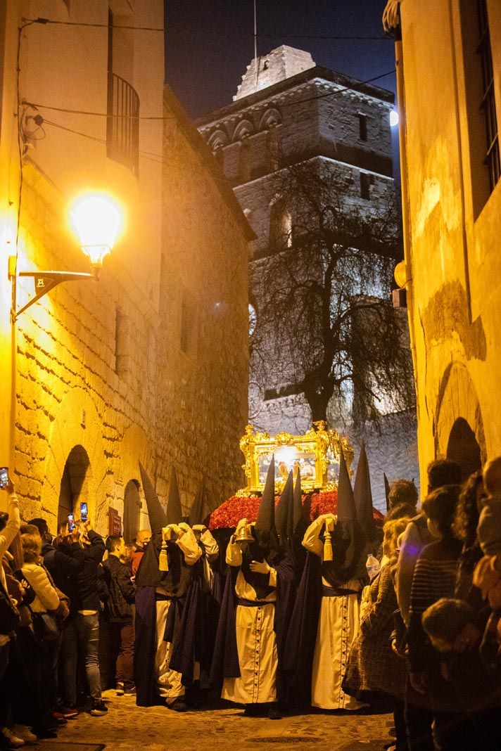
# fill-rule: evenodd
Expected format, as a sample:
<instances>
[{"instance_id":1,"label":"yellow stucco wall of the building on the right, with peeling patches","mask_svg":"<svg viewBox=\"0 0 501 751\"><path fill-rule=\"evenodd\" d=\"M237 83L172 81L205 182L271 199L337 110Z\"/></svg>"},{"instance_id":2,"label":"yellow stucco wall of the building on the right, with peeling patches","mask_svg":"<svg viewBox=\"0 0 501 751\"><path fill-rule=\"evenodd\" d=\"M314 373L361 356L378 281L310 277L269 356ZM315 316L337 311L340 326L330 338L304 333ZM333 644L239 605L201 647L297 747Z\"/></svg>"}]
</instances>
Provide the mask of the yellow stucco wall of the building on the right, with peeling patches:
<instances>
[{"instance_id":1,"label":"yellow stucco wall of the building on the right, with peeling patches","mask_svg":"<svg viewBox=\"0 0 501 751\"><path fill-rule=\"evenodd\" d=\"M487 8L501 123L501 7L487 0ZM483 459L501 452L501 182L475 218L460 3L406 0L400 9L409 319L426 487L427 464L446 455L457 418L475 432Z\"/></svg>"}]
</instances>

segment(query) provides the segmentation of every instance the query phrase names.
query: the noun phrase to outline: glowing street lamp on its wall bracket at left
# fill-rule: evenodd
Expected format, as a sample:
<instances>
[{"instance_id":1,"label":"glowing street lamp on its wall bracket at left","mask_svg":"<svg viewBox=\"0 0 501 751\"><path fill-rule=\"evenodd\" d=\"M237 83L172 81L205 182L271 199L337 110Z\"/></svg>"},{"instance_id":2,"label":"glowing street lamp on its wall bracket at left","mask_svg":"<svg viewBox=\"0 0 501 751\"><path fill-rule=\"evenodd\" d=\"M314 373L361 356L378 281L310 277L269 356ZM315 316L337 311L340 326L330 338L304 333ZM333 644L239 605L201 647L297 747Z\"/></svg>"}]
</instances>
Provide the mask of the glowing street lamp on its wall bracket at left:
<instances>
[{"instance_id":1,"label":"glowing street lamp on its wall bracket at left","mask_svg":"<svg viewBox=\"0 0 501 751\"><path fill-rule=\"evenodd\" d=\"M70 213L72 224L80 240L80 247L89 258L92 273L74 271L20 271L17 273L17 257L11 256L9 277L12 280L11 316L14 322L18 315L61 282L99 279L104 256L110 253L122 226L122 211L109 195L86 193L74 201ZM17 279L27 276L35 282L35 296L26 305L17 309Z\"/></svg>"}]
</instances>

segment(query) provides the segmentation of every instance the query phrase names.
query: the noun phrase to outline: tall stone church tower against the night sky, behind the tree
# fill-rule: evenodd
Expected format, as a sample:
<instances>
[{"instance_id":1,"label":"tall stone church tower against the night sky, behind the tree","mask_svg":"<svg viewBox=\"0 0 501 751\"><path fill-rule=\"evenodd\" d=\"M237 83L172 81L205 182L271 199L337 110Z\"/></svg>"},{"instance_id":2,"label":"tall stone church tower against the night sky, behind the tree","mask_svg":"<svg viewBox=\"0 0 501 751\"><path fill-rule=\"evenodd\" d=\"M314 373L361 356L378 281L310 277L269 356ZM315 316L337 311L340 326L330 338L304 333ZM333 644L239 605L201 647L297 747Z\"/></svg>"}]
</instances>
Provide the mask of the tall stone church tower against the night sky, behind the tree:
<instances>
[{"instance_id":1,"label":"tall stone church tower against the night sky, behind the tree","mask_svg":"<svg viewBox=\"0 0 501 751\"><path fill-rule=\"evenodd\" d=\"M277 238L291 237L294 216L277 179L291 164L316 161L346 173L352 199L364 213L394 194L390 112L394 95L315 65L309 53L282 45L252 60L232 104L197 125L234 188L257 239L249 260L252 319L259 316L258 279ZM385 435L368 446L375 501L382 503L382 472L395 479L418 478L415 431L401 435L391 415ZM311 412L293 381L259 382L249 374L249 421L270 433L303 433ZM396 439L397 434L397 439ZM372 456L371 456L372 454Z\"/></svg>"}]
</instances>

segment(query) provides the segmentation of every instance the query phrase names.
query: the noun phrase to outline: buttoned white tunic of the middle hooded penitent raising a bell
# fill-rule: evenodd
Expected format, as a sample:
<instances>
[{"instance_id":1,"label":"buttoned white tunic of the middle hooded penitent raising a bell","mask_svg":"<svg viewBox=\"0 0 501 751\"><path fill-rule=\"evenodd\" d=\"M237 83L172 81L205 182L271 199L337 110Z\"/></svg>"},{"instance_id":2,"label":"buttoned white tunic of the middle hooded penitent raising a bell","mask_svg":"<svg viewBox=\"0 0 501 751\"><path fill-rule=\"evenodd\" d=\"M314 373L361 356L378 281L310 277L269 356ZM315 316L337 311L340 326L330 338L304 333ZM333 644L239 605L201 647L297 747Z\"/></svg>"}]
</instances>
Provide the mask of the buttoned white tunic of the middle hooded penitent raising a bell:
<instances>
[{"instance_id":1,"label":"buttoned white tunic of the middle hooded penitent raising a bell","mask_svg":"<svg viewBox=\"0 0 501 751\"><path fill-rule=\"evenodd\" d=\"M226 550L228 566L242 565L242 551L230 541ZM271 569L270 587L276 587L276 570ZM239 571L235 593L240 599L259 602L257 606L237 605L235 626L237 629L239 678L225 678L222 698L237 704L261 704L276 701L276 668L278 654L273 630L276 592L258 599L252 587Z\"/></svg>"}]
</instances>

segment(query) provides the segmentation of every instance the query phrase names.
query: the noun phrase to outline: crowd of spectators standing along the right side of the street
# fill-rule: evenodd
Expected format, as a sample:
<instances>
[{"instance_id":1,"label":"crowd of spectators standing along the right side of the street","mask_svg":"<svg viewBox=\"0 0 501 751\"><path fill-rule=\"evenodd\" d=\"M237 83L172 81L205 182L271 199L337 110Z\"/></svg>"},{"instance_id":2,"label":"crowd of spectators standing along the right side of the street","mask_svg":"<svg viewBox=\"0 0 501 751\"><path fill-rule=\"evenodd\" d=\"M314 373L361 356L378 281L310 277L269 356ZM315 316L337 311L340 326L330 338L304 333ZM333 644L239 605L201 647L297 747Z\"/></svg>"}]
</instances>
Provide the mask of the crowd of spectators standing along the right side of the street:
<instances>
[{"instance_id":1,"label":"crowd of spectators standing along the right side of the street","mask_svg":"<svg viewBox=\"0 0 501 751\"><path fill-rule=\"evenodd\" d=\"M428 468L391 488L381 569L368 588L343 687L391 700L391 751L501 749L501 458L463 483Z\"/></svg>"}]
</instances>

